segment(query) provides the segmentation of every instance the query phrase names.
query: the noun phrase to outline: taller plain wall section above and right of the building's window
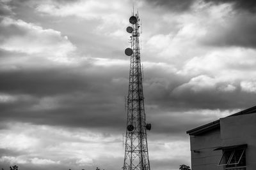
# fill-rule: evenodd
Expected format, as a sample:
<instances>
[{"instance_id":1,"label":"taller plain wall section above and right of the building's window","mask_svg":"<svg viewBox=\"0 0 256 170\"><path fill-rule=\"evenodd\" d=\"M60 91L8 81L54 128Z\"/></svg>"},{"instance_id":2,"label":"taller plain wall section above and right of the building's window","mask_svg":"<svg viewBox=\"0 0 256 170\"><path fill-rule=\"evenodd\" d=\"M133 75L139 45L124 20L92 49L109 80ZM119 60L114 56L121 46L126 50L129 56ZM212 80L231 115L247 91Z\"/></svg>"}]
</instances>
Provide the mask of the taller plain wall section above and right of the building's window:
<instances>
[{"instance_id":1,"label":"taller plain wall section above and right of the building's window","mask_svg":"<svg viewBox=\"0 0 256 170\"><path fill-rule=\"evenodd\" d=\"M221 146L247 144L248 148L246 149L246 170L255 170L256 114L252 113L248 115L221 118L220 127Z\"/></svg>"}]
</instances>

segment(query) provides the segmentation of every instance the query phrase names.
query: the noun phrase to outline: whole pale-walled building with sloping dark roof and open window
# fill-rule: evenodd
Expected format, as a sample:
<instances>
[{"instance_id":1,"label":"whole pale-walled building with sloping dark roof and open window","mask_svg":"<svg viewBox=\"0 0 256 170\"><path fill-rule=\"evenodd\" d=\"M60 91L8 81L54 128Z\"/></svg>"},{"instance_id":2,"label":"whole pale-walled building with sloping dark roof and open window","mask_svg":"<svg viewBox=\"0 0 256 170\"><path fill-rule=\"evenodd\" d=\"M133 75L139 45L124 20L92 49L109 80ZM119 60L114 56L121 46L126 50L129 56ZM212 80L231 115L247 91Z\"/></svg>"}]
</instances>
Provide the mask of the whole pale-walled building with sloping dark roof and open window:
<instances>
[{"instance_id":1,"label":"whole pale-walled building with sloping dark roof and open window","mask_svg":"<svg viewBox=\"0 0 256 170\"><path fill-rule=\"evenodd\" d=\"M187 131L192 170L256 169L256 106Z\"/></svg>"}]
</instances>

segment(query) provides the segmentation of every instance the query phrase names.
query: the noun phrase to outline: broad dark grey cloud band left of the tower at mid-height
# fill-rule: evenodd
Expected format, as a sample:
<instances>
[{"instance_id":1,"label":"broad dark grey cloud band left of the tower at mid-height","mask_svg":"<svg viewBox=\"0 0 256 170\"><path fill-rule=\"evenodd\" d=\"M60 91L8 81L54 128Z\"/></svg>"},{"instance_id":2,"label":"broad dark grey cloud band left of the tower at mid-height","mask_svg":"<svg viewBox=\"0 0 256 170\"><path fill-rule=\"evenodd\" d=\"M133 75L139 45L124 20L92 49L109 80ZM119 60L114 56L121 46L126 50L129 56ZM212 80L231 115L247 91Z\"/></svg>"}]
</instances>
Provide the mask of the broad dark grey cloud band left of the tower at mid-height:
<instances>
[{"instance_id":1,"label":"broad dark grey cloud band left of the tower at mid-height","mask_svg":"<svg viewBox=\"0 0 256 170\"><path fill-rule=\"evenodd\" d=\"M105 74L102 69L98 75L90 69L85 72L67 68L1 72L0 92L18 96L17 101L1 104L2 121L120 127L125 117L123 84L111 81L115 76L111 71ZM56 108L51 108L52 102Z\"/></svg>"}]
</instances>

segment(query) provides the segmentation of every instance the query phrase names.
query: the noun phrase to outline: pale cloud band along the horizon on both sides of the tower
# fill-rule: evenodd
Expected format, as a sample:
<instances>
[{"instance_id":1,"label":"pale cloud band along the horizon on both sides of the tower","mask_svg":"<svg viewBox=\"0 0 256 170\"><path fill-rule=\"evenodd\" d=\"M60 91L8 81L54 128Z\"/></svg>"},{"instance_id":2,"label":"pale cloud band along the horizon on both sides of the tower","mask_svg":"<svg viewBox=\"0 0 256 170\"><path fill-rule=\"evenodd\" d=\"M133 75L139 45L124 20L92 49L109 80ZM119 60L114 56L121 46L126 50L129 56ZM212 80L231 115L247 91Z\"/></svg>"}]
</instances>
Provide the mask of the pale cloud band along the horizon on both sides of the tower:
<instances>
[{"instance_id":1,"label":"pale cloud band along the horizon on both sides of the tower","mask_svg":"<svg viewBox=\"0 0 256 170\"><path fill-rule=\"evenodd\" d=\"M6 123L5 123L6 124ZM52 127L49 125L31 125L12 122L7 124L6 129L1 130L1 134L20 134L26 138L40 139L31 140L30 145L37 145L36 147L22 148L19 147L19 154L13 152L16 149L10 148L12 152L0 153L0 166L6 167L6 164L17 164L19 168L33 169L35 167L42 168L42 164L53 169L67 169L67 168L86 168L94 169L97 167L104 167L106 169L115 168L115 166L122 167L124 161L124 151L122 150L122 135L118 134L104 134L100 131L92 131L90 129L69 129L66 127ZM161 155L166 155L166 160L173 160L173 169L179 166L179 162L186 162L185 157L189 157L189 145L187 142L178 140L170 140L161 136L150 140L152 136L148 136L150 160L152 162L159 162ZM164 138L164 141L162 140ZM19 139L17 136L16 139ZM9 139L2 138L4 143ZM27 143L27 141L20 141L20 143ZM2 146L2 145L0 145ZM19 145L18 145L19 146ZM17 147L18 147L17 146ZM182 152L180 152L180 148ZM168 152L166 154L166 150ZM100 154L99 154L100 153ZM174 157L173 153L176 154ZM187 155L187 156L186 156ZM166 160L161 159L163 162ZM175 160L175 161L174 161ZM113 162L113 164L109 164ZM166 162L166 164L168 164ZM170 162L169 162L170 165ZM151 164L152 167L163 169L164 167L156 164Z\"/></svg>"}]
</instances>

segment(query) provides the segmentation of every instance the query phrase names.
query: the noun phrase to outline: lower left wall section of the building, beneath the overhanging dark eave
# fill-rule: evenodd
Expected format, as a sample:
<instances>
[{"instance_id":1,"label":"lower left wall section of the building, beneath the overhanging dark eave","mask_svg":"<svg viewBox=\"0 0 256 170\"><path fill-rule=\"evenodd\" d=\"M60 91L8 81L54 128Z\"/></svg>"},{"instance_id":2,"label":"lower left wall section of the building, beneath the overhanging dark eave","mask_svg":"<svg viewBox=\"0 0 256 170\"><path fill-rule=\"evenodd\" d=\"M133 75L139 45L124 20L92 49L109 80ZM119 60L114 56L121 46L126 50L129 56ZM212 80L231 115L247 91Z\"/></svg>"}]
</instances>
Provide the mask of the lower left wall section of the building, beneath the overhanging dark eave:
<instances>
[{"instance_id":1,"label":"lower left wall section of the building, beneath the overhanging dark eave","mask_svg":"<svg viewBox=\"0 0 256 170\"><path fill-rule=\"evenodd\" d=\"M221 146L220 129L212 130L201 136L190 136L190 146L193 170L223 170L223 167L218 167L222 152L213 151L214 148Z\"/></svg>"}]
</instances>

